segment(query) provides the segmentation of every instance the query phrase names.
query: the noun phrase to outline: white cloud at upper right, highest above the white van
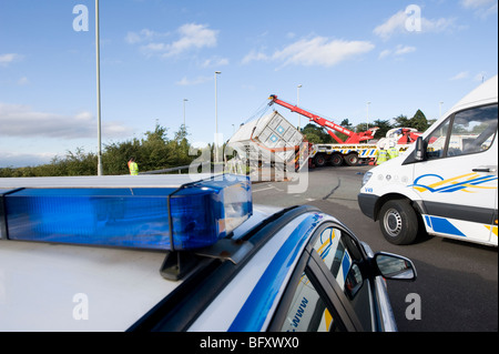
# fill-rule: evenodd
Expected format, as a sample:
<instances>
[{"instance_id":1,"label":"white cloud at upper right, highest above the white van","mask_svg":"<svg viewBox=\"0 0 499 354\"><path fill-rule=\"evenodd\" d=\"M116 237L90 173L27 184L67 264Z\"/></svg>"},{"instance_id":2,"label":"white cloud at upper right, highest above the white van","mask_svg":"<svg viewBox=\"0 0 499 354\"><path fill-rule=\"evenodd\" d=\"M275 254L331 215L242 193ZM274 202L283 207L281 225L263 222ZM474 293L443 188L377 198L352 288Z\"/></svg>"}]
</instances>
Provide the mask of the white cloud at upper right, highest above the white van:
<instances>
[{"instance_id":1,"label":"white cloud at upper right, highest above the white van","mask_svg":"<svg viewBox=\"0 0 499 354\"><path fill-rule=\"evenodd\" d=\"M457 28L456 19L454 18L440 18L440 19L426 19L420 17L420 26L415 26L411 21L415 19L414 13L406 11L398 11L391 16L384 23L377 26L373 32L384 40L390 39L395 34L399 33L436 33L447 30L454 30Z\"/></svg>"}]
</instances>

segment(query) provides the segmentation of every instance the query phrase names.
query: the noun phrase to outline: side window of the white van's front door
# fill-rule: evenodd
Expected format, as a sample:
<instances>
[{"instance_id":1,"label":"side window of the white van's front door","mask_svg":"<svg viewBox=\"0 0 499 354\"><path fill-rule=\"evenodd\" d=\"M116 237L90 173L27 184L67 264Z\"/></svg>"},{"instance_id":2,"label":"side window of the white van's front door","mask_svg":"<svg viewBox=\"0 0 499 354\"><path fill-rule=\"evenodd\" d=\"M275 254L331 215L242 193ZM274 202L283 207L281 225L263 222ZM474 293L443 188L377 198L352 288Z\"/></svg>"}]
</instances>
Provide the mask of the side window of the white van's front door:
<instances>
[{"instance_id":1,"label":"side window of the white van's front door","mask_svg":"<svg viewBox=\"0 0 499 354\"><path fill-rule=\"evenodd\" d=\"M497 104L457 112L427 136L428 160L488 150L496 139L497 123Z\"/></svg>"}]
</instances>

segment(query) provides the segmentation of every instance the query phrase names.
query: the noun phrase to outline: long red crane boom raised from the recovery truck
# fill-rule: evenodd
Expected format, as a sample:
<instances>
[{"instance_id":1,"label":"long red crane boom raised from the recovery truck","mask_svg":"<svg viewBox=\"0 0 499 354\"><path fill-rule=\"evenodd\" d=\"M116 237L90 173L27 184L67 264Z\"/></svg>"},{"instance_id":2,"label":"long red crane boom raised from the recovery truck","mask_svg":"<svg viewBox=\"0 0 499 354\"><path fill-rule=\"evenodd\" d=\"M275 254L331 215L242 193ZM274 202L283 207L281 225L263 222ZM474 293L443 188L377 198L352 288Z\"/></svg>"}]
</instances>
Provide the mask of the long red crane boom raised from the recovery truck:
<instances>
[{"instance_id":1,"label":"long red crane boom raised from the recovery truck","mask_svg":"<svg viewBox=\"0 0 499 354\"><path fill-rule=\"evenodd\" d=\"M301 109L297 105L293 105L291 103L287 103L283 100L277 99L277 95L272 94L269 97L269 99L272 100L269 104L276 103L279 104L284 108L289 109L292 112L296 112L298 114L302 114L304 117L307 117L310 121L314 121L316 124L326 128L327 132L329 133L329 135L333 136L333 139L335 139L338 143L349 143L349 144L356 144L359 143L360 141L367 141L374 138L374 132L377 130L377 128L371 128L369 129L367 132L361 132L361 133L356 133L353 132L342 125L338 125L327 119L324 119L317 114L310 113L304 109ZM334 132L332 132L330 130L335 130L337 132L340 132L345 135L348 136L348 139L346 141L342 141L342 139L339 139Z\"/></svg>"}]
</instances>

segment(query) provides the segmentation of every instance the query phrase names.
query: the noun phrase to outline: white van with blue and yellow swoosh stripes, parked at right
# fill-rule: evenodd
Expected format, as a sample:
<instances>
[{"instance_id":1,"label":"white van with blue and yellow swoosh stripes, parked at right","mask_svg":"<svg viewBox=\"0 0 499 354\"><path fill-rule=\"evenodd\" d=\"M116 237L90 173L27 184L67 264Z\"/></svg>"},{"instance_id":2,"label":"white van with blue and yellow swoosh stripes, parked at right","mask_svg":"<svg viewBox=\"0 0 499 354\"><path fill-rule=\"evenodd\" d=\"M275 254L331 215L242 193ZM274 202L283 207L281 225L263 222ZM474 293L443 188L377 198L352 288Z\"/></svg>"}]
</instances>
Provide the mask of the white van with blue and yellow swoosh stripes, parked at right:
<instances>
[{"instance_id":1,"label":"white van with blue and yellow swoosh stripes, parked at right","mask_svg":"<svg viewBox=\"0 0 499 354\"><path fill-rule=\"evenodd\" d=\"M498 245L498 77L471 91L403 155L370 171L358 203L394 244L431 235ZM421 229L420 229L421 227Z\"/></svg>"}]
</instances>

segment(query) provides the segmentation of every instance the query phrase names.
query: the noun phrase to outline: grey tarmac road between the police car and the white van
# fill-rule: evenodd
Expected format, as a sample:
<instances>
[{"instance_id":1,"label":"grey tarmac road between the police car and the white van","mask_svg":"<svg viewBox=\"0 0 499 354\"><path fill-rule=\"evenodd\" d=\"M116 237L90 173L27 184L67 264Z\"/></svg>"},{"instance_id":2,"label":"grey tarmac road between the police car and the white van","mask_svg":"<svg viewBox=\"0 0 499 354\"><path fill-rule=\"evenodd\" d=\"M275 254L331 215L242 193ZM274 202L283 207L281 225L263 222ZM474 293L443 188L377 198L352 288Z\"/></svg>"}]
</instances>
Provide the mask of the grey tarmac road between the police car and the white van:
<instances>
[{"instance_id":1,"label":"grey tarmac road between the police car and the white van","mask_svg":"<svg viewBox=\"0 0 499 354\"><path fill-rule=\"evenodd\" d=\"M294 182L253 183L253 201L275 206L317 206L346 224L374 252L409 257L418 272L416 282L388 281L399 332L497 332L497 247L427 235L413 245L388 243L378 223L365 216L357 203L364 172L369 168L309 170L307 188L301 193L289 193ZM406 311L414 314L415 299L420 300L421 317L408 320Z\"/></svg>"}]
</instances>

